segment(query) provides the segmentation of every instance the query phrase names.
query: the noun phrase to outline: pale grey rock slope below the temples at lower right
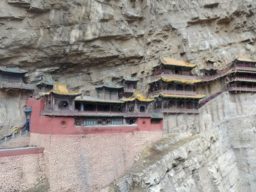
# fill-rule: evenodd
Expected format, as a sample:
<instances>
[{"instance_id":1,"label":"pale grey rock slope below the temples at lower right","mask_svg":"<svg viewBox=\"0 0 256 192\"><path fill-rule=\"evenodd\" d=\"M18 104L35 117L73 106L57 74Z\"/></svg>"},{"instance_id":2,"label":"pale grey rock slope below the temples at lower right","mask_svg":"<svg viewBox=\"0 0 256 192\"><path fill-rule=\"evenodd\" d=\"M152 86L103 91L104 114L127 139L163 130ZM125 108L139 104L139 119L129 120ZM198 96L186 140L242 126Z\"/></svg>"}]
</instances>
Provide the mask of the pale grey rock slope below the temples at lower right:
<instances>
[{"instance_id":1,"label":"pale grey rock slope below the temples at lower right","mask_svg":"<svg viewBox=\"0 0 256 192\"><path fill-rule=\"evenodd\" d=\"M109 189L255 191L255 99L251 93L221 94L190 117L188 126L172 129L179 134L144 149Z\"/></svg>"}]
</instances>

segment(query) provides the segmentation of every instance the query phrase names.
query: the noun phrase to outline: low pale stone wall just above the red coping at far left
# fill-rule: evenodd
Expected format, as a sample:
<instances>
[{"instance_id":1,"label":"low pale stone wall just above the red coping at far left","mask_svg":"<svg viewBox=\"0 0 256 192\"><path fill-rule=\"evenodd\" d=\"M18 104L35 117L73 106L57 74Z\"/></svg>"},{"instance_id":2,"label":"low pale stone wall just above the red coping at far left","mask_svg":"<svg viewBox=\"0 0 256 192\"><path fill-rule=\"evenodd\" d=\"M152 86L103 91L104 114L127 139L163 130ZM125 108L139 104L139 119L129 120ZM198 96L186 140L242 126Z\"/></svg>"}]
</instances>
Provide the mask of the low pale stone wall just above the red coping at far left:
<instances>
[{"instance_id":1,"label":"low pale stone wall just above the red coping at far left","mask_svg":"<svg viewBox=\"0 0 256 192\"><path fill-rule=\"evenodd\" d=\"M0 144L0 149L4 148L15 148L15 147L26 147L30 145L29 136L19 136L18 138L11 139L7 142Z\"/></svg>"}]
</instances>

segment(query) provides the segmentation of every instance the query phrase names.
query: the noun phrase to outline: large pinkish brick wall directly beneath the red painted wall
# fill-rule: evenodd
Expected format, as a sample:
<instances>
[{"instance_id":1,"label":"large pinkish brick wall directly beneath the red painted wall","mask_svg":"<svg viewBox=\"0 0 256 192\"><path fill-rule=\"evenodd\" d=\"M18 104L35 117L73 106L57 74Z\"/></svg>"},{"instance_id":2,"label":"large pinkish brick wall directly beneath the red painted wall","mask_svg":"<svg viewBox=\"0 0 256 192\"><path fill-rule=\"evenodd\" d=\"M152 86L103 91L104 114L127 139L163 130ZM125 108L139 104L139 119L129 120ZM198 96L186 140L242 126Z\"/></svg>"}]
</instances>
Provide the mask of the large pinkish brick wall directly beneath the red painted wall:
<instances>
[{"instance_id":1,"label":"large pinkish brick wall directly beneath the red painted wall","mask_svg":"<svg viewBox=\"0 0 256 192\"><path fill-rule=\"evenodd\" d=\"M135 155L162 138L162 131L30 137L43 140L51 191L94 192L124 174Z\"/></svg>"}]
</instances>

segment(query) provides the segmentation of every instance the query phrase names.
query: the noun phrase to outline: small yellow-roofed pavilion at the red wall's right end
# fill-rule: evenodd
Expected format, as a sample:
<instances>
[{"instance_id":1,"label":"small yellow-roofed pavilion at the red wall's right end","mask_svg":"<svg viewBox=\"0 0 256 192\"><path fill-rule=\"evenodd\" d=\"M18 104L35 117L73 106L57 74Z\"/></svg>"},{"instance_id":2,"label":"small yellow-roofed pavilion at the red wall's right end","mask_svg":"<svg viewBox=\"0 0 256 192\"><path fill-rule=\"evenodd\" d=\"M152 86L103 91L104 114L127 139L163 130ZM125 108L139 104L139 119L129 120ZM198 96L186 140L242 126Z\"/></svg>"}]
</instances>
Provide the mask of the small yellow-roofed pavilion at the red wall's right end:
<instances>
[{"instance_id":1,"label":"small yellow-roofed pavilion at the red wall's right end","mask_svg":"<svg viewBox=\"0 0 256 192\"><path fill-rule=\"evenodd\" d=\"M135 90L132 97L122 99L122 101L126 102L124 115L126 122L132 124L131 122L134 122L135 118L138 117L152 118L152 102L154 100L155 99L147 99L146 97L143 97L141 92Z\"/></svg>"}]
</instances>

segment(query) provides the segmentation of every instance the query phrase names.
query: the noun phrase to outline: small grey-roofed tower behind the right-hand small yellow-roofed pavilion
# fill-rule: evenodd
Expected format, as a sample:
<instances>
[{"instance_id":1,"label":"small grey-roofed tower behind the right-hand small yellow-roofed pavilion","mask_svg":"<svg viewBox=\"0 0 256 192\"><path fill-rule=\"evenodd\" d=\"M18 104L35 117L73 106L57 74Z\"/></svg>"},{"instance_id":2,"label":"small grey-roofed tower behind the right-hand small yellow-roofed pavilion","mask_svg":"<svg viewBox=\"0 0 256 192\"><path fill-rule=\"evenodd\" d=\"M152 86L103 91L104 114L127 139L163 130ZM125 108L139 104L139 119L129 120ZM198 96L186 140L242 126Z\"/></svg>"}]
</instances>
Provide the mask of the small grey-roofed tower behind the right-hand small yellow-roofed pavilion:
<instances>
[{"instance_id":1,"label":"small grey-roofed tower behind the right-hand small yellow-roofed pavilion","mask_svg":"<svg viewBox=\"0 0 256 192\"><path fill-rule=\"evenodd\" d=\"M131 75L124 75L121 79L121 84L124 87L124 97L131 97L133 91L137 91L137 83L139 79L131 77Z\"/></svg>"}]
</instances>

